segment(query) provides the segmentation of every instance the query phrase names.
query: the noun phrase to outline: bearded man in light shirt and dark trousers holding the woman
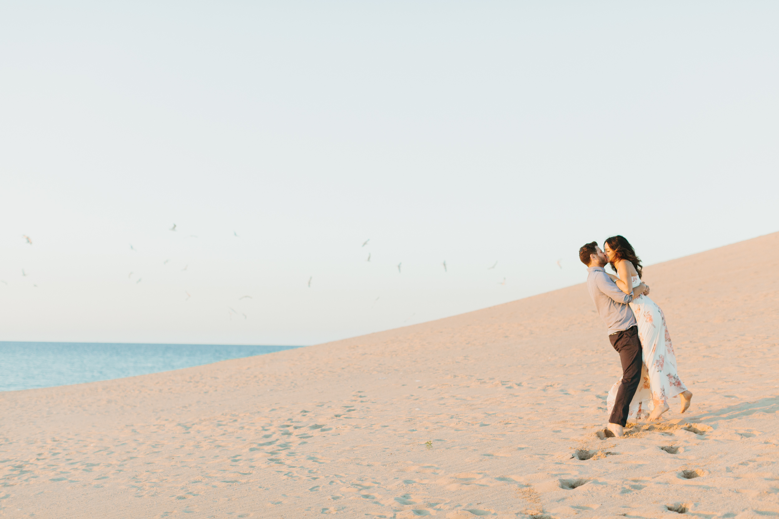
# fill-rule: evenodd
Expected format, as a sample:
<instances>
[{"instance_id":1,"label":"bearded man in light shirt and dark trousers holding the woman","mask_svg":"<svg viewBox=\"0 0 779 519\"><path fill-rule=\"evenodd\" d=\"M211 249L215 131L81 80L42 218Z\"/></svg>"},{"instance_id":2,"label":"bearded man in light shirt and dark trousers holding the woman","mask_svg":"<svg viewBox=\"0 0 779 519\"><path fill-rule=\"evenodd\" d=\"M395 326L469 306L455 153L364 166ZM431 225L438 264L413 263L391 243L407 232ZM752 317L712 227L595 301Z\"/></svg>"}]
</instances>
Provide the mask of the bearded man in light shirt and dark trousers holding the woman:
<instances>
[{"instance_id":1,"label":"bearded man in light shirt and dark trousers holding the woman","mask_svg":"<svg viewBox=\"0 0 779 519\"><path fill-rule=\"evenodd\" d=\"M608 327L608 339L619 352L619 359L622 361L622 380L617 390L612 416L608 418L608 430L620 437L625 434L623 427L628 420L630 401L633 400L641 380L641 342L638 338L636 316L628 303L642 293L648 294L649 287L641 283L631 294L622 292L606 275L604 267L608 265L608 258L601 251L601 247L597 246L597 242L583 245L579 249L579 259L587 265L587 289L595 303L597 314Z\"/></svg>"}]
</instances>

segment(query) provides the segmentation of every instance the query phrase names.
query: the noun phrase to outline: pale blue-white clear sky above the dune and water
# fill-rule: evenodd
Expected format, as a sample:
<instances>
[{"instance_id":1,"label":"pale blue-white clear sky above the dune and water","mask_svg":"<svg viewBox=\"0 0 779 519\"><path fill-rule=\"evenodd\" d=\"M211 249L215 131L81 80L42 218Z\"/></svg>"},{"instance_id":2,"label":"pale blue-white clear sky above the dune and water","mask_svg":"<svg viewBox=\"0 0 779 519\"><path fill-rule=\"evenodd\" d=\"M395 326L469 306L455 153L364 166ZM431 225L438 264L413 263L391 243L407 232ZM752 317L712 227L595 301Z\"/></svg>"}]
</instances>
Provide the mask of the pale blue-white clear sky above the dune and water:
<instances>
[{"instance_id":1,"label":"pale blue-white clear sky above the dune and water","mask_svg":"<svg viewBox=\"0 0 779 519\"><path fill-rule=\"evenodd\" d=\"M315 344L775 232L777 14L6 2L0 340Z\"/></svg>"}]
</instances>

